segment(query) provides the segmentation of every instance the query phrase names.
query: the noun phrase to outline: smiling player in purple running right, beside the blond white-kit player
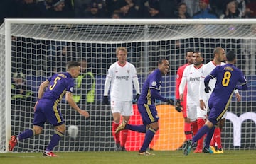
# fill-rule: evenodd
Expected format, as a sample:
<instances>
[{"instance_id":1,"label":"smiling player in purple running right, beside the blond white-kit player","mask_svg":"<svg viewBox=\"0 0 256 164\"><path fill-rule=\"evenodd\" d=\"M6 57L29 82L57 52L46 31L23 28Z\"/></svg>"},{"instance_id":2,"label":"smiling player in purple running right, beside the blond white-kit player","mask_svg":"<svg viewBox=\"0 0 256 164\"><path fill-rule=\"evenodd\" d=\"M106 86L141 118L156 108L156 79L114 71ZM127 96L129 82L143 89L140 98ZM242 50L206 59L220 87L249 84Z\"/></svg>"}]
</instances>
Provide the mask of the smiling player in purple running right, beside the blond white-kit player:
<instances>
[{"instance_id":1,"label":"smiling player in purple running right, beside the blond white-kit player","mask_svg":"<svg viewBox=\"0 0 256 164\"><path fill-rule=\"evenodd\" d=\"M137 102L139 113L142 116L142 125L131 125L123 121L119 127L117 127L115 133L118 133L121 130L129 129L132 131L138 131L140 133L146 133L144 143L139 150L139 155L150 156L154 155L146 151L146 148L149 147L151 140L156 134L156 131L159 129L159 116L157 115L155 100L161 100L167 102L171 105L174 104L173 100L164 98L159 94L161 88L162 76L166 75L169 71L169 61L166 59L159 59L158 69L154 70L149 74L148 78L142 86L142 93L139 96Z\"/></svg>"}]
</instances>

